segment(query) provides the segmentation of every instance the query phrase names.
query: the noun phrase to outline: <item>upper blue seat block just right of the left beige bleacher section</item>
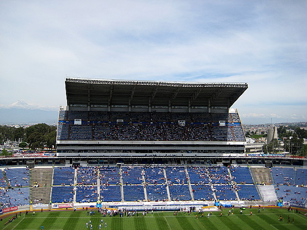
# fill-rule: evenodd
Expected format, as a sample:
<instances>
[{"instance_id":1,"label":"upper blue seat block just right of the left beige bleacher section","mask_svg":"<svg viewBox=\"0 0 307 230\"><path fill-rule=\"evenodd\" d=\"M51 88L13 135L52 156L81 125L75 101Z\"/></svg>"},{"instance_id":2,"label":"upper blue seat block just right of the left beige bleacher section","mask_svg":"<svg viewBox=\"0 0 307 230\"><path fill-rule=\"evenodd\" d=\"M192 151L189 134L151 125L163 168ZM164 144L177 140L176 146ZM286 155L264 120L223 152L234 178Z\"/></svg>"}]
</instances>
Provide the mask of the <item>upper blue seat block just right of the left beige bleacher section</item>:
<instances>
[{"instance_id":1,"label":"upper blue seat block just right of the left beige bleacher section","mask_svg":"<svg viewBox=\"0 0 307 230\"><path fill-rule=\"evenodd\" d=\"M55 167L53 171L53 185L74 184L75 169L71 167Z\"/></svg>"}]
</instances>

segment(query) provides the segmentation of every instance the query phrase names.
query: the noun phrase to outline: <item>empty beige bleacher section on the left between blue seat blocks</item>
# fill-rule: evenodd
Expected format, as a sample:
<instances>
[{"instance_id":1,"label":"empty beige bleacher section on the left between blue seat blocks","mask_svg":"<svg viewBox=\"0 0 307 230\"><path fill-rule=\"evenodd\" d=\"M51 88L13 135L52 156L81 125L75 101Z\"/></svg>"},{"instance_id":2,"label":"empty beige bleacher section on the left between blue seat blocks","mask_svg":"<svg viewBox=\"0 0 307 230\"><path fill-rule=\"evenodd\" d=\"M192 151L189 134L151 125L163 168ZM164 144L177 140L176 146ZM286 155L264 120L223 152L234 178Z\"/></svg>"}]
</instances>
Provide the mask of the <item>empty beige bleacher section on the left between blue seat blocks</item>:
<instances>
[{"instance_id":1,"label":"empty beige bleacher section on the left between blue seat blocks","mask_svg":"<svg viewBox=\"0 0 307 230\"><path fill-rule=\"evenodd\" d=\"M31 200L33 203L49 203L52 183L52 167L32 168L31 170ZM32 187L36 182L39 187Z\"/></svg>"}]
</instances>

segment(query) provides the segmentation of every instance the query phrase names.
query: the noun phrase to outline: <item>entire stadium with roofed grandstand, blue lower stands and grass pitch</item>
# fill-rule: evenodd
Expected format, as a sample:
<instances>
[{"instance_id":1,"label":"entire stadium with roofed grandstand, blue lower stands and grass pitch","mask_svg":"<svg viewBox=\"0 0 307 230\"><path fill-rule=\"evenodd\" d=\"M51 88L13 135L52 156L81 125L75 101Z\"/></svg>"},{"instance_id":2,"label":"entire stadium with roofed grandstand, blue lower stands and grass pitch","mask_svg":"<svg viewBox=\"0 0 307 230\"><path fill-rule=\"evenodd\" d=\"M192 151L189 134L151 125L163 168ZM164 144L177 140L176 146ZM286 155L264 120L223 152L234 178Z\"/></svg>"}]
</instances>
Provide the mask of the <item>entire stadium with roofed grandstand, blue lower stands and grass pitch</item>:
<instances>
[{"instance_id":1,"label":"entire stadium with roofed grandstand, blue lower stands and grass pitch","mask_svg":"<svg viewBox=\"0 0 307 230\"><path fill-rule=\"evenodd\" d=\"M1 159L1 225L82 229L92 218L98 228L103 216L119 229L305 229L307 160L246 154L231 106L247 88L65 79L56 155ZM93 210L96 216L87 217ZM120 217L129 215L135 222L123 223Z\"/></svg>"}]
</instances>

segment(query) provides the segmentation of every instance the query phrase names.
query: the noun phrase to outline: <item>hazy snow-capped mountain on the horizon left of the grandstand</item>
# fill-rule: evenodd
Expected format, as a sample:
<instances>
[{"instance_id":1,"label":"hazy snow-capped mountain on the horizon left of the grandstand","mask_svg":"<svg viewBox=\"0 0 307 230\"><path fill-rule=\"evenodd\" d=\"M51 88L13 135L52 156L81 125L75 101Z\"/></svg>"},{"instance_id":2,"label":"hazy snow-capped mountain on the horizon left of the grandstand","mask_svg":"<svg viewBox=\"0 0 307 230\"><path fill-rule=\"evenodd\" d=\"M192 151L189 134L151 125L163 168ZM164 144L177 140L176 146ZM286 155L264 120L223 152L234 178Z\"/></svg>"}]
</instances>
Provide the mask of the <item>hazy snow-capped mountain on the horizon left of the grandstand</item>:
<instances>
[{"instance_id":1,"label":"hazy snow-capped mountain on the horizon left of the grandstand","mask_svg":"<svg viewBox=\"0 0 307 230\"><path fill-rule=\"evenodd\" d=\"M0 108L0 124L37 124L57 123L58 112L27 108L27 104L18 104L10 108Z\"/></svg>"}]
</instances>

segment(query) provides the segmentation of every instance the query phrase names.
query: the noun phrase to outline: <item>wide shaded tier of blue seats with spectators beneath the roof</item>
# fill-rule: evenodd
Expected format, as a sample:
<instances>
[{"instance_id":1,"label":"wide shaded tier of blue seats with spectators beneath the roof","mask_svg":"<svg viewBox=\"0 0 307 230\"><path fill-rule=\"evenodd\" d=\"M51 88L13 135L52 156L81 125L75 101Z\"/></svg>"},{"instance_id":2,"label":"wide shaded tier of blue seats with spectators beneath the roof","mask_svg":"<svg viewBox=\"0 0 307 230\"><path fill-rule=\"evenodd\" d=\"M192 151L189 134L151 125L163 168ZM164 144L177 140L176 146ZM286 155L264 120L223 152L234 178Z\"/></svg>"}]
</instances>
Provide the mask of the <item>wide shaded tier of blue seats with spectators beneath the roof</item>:
<instances>
[{"instance_id":1,"label":"wide shaded tier of blue seats with spectators beneath the roof","mask_svg":"<svg viewBox=\"0 0 307 230\"><path fill-rule=\"evenodd\" d=\"M98 111L60 111L57 140L246 141L237 113Z\"/></svg>"}]
</instances>

